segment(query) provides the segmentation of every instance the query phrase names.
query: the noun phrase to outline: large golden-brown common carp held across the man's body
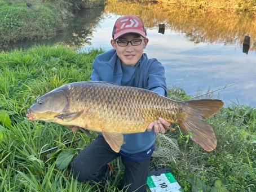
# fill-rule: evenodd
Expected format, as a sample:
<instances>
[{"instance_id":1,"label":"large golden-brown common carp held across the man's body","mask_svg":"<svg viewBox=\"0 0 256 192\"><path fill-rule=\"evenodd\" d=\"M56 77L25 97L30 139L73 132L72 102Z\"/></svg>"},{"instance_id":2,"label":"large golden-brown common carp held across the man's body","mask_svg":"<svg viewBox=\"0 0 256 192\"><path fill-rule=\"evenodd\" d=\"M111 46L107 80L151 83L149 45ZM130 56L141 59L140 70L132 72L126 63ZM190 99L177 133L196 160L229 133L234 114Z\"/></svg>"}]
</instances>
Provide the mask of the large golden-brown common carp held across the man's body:
<instances>
[{"instance_id":1,"label":"large golden-brown common carp held across the man's body","mask_svg":"<svg viewBox=\"0 0 256 192\"><path fill-rule=\"evenodd\" d=\"M217 139L204 121L223 106L221 100L174 101L156 92L106 82L65 84L39 97L28 109L29 120L43 120L101 132L118 152L123 134L141 133L158 117L176 123L206 151Z\"/></svg>"}]
</instances>

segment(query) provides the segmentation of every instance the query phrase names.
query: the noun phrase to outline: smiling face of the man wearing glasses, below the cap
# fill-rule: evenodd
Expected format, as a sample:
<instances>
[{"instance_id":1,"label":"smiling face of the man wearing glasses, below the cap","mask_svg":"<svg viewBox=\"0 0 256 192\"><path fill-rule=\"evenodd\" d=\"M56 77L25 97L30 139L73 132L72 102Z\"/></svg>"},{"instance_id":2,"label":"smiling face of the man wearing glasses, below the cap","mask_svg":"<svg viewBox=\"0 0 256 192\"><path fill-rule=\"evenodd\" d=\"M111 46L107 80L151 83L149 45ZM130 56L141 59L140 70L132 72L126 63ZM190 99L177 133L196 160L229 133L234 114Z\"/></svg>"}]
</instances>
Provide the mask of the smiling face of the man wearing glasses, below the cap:
<instances>
[{"instance_id":1,"label":"smiling face of the man wearing glasses, below the cap","mask_svg":"<svg viewBox=\"0 0 256 192\"><path fill-rule=\"evenodd\" d=\"M127 46L120 46L118 45L117 41L133 41L134 39L142 39L142 43L139 45L131 45L131 43L128 43ZM146 48L148 44L148 38L143 38L138 34L124 34L116 41L113 39L111 40L112 47L116 50L117 56L120 58L122 64L128 65L128 66L135 66L137 62L139 61L140 57L142 57L143 50ZM136 44L136 43L134 43Z\"/></svg>"}]
</instances>

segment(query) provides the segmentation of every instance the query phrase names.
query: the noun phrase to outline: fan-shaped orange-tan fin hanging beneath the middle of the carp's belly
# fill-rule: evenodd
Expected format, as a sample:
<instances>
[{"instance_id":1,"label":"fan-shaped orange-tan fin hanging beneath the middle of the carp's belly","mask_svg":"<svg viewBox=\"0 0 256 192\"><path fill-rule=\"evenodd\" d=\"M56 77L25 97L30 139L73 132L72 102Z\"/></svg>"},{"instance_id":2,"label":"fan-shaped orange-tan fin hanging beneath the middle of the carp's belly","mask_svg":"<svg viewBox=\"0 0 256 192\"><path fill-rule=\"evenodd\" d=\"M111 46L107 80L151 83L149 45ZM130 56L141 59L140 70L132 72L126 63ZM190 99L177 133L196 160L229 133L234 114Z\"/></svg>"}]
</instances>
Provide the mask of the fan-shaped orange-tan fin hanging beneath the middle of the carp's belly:
<instances>
[{"instance_id":1,"label":"fan-shaped orange-tan fin hanging beneath the middle of the carp's belly","mask_svg":"<svg viewBox=\"0 0 256 192\"><path fill-rule=\"evenodd\" d=\"M121 133L107 132L104 130L101 131L101 133L111 149L118 153L123 144L123 135Z\"/></svg>"}]
</instances>

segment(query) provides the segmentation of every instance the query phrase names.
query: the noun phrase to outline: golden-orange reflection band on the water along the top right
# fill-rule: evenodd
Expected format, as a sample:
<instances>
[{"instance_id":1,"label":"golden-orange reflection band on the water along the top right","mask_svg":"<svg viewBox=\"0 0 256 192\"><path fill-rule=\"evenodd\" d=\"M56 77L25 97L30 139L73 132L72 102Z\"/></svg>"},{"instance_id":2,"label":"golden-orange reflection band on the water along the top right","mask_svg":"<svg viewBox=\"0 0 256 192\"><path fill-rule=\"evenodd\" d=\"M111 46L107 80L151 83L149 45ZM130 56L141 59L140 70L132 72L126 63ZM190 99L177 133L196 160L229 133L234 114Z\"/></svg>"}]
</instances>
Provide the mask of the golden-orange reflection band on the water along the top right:
<instances>
[{"instance_id":1,"label":"golden-orange reflection band on the water along the top right","mask_svg":"<svg viewBox=\"0 0 256 192\"><path fill-rule=\"evenodd\" d=\"M253 15L237 15L228 10L177 7L177 5L142 5L109 0L105 12L117 15L138 15L149 28L165 24L165 29L183 33L194 43L241 44L251 37L250 50L256 49L256 19Z\"/></svg>"}]
</instances>

